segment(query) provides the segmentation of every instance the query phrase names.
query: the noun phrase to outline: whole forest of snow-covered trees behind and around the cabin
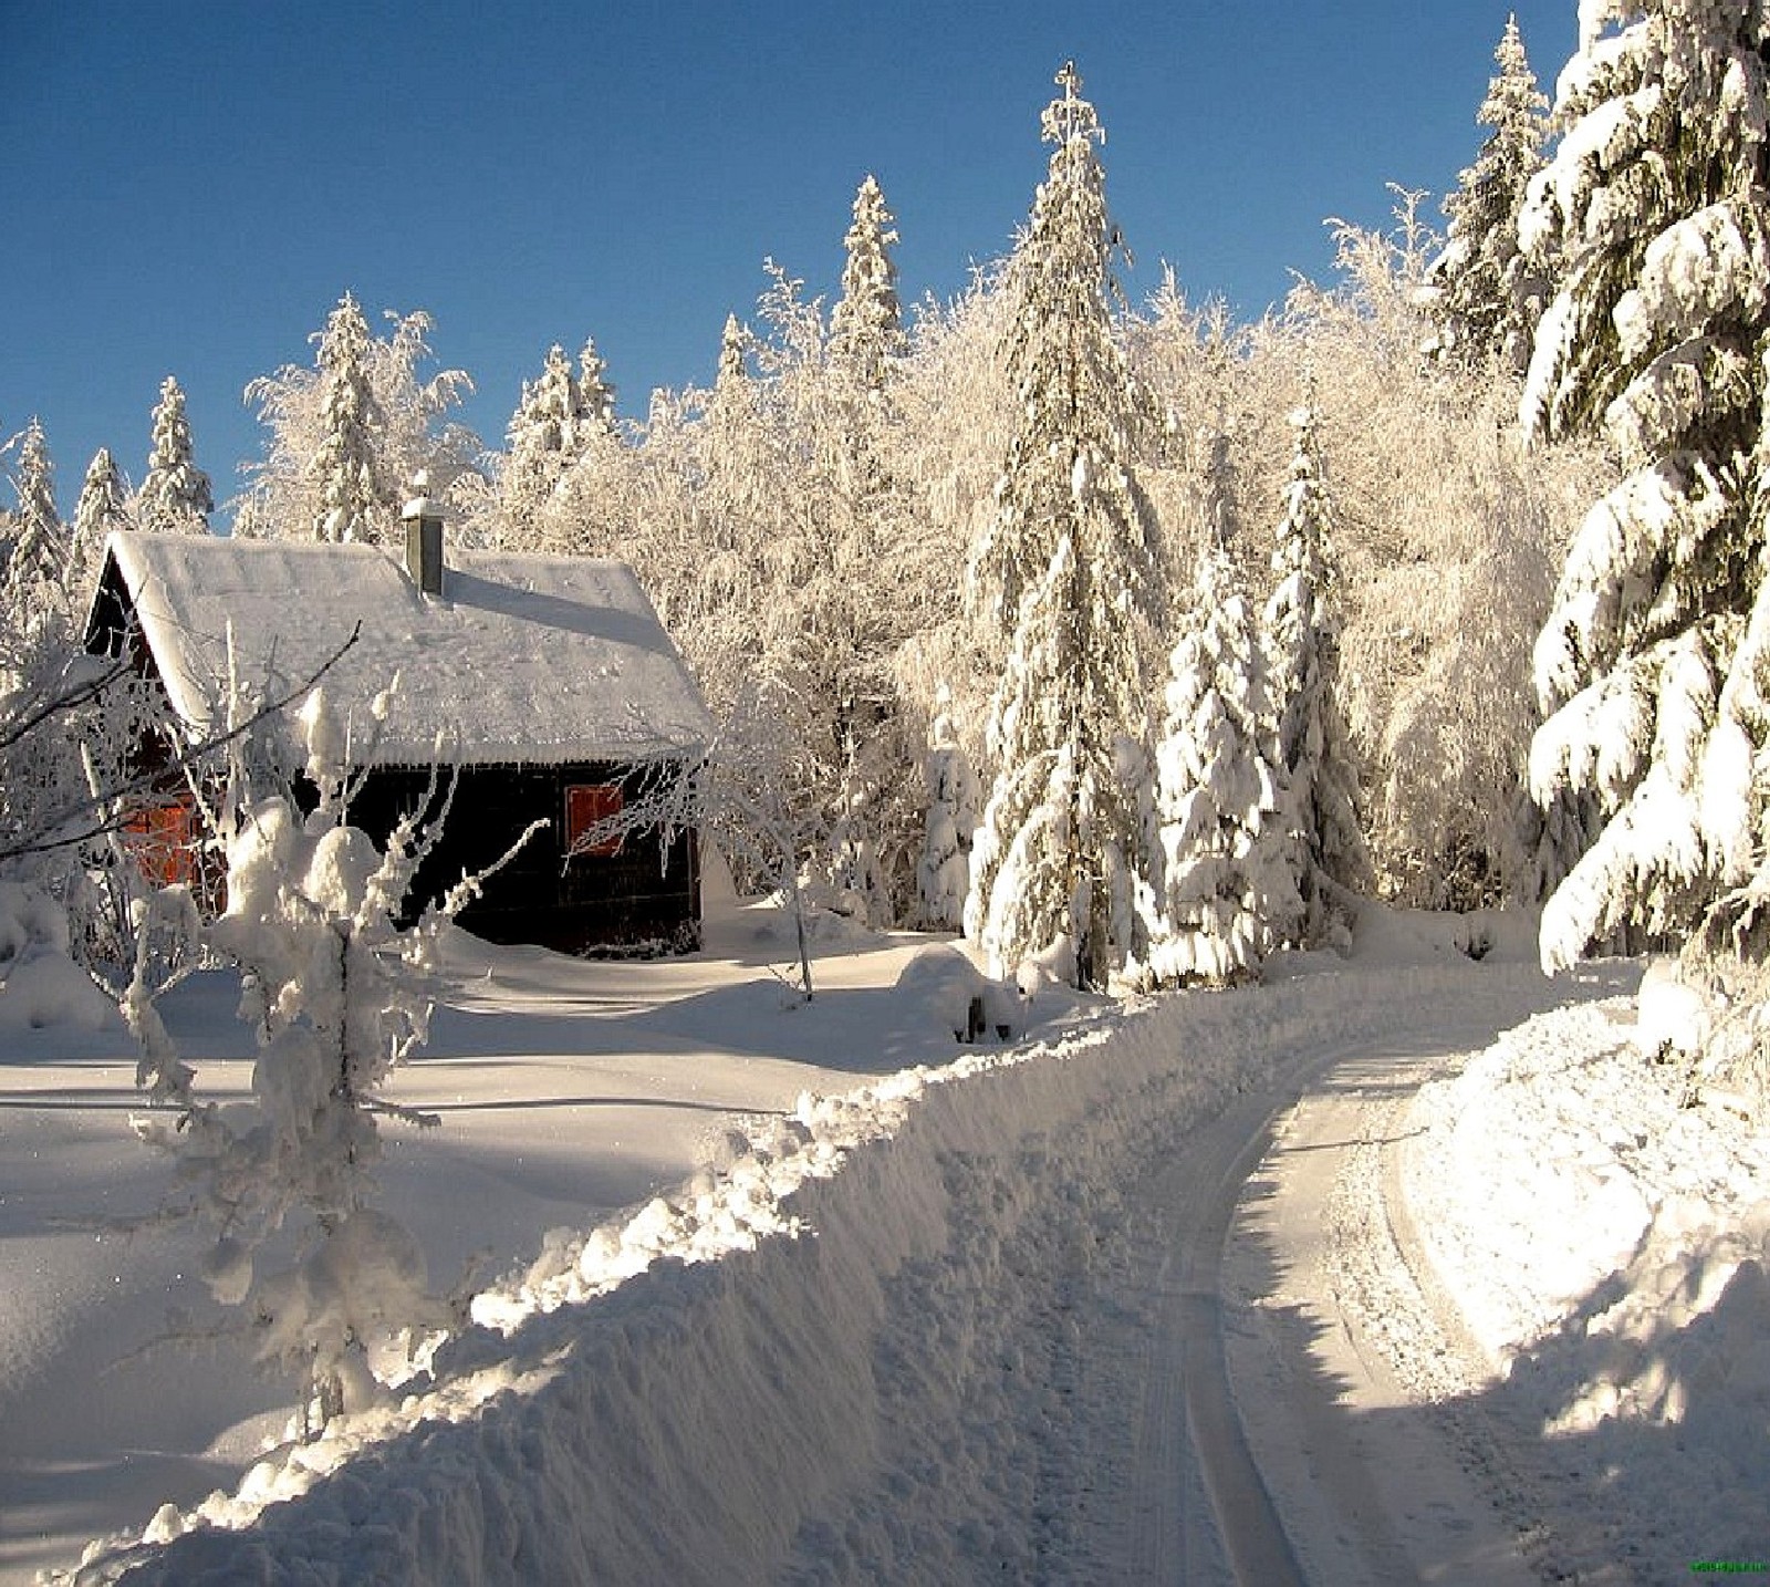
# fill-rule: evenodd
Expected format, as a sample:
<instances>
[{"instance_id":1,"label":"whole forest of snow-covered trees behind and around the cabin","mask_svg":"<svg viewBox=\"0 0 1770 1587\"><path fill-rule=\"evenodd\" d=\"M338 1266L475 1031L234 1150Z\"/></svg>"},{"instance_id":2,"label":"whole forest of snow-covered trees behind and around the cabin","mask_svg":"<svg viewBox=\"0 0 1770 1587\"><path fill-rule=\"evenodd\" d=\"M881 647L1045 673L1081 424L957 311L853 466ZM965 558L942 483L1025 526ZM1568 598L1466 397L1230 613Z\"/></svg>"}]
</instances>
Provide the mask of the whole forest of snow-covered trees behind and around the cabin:
<instances>
[{"instance_id":1,"label":"whole forest of snow-covered trees behind and around the cabin","mask_svg":"<svg viewBox=\"0 0 1770 1587\"><path fill-rule=\"evenodd\" d=\"M489 450L428 317L345 294L248 390L232 533L388 542L423 473L457 544L632 563L805 896L1002 976L1223 985L1379 896L1542 903L1547 965L1694 944L1743 981L1766 53L1743 0L1584 0L1551 108L1506 21L1443 232L1397 191L1255 324L1172 275L1124 299L1066 66L1009 257L904 305L867 175L834 301L770 262L712 388L643 420L577 328ZM0 857L103 974L113 751L39 724L103 716L73 652L104 533L209 533L216 499L172 377L140 485L101 452L69 523L39 425L5 462Z\"/></svg>"}]
</instances>

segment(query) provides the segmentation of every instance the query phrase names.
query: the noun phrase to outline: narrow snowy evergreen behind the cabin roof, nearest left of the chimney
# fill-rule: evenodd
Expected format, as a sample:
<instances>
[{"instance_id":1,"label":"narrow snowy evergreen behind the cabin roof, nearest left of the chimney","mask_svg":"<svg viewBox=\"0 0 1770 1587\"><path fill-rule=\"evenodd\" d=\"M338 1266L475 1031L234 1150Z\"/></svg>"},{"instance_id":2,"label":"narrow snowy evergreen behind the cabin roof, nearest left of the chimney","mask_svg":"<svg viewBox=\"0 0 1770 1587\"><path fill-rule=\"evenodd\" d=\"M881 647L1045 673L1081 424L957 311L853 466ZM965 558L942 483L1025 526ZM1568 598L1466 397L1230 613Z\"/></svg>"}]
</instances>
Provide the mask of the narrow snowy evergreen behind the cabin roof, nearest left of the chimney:
<instances>
[{"instance_id":1,"label":"narrow snowy evergreen behind the cabin roof, nearest left of the chimney","mask_svg":"<svg viewBox=\"0 0 1770 1587\"><path fill-rule=\"evenodd\" d=\"M319 540L384 538L400 482L382 476L381 436L388 427L368 383L368 321L345 292L320 335Z\"/></svg>"}]
</instances>

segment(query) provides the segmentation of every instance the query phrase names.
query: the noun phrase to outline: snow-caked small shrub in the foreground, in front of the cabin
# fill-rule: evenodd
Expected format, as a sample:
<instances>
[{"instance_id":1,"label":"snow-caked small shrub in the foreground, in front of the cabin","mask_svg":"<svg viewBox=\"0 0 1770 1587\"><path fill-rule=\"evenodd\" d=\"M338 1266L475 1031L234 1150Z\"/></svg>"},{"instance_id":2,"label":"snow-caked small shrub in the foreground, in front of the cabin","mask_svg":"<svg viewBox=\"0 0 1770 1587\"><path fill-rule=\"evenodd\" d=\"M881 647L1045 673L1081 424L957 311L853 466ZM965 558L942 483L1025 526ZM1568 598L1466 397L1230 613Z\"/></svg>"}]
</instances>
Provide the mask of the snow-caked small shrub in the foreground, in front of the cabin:
<instances>
[{"instance_id":1,"label":"snow-caked small shrub in the foreground, in front of the cabin","mask_svg":"<svg viewBox=\"0 0 1770 1587\"><path fill-rule=\"evenodd\" d=\"M264 1360L306 1373L308 1413L324 1422L373 1392L372 1346L446 1321L416 1242L370 1196L377 1119L434 1123L381 1091L425 1040L437 935L471 882L402 928L448 801L434 783L382 850L345 820L340 735L319 691L301 723L320 802L303 815L273 795L223 813L227 910L207 933L241 969L241 1017L258 1041L251 1100L202 1102L140 987L126 1011L142 1040L140 1082L173 1109L138 1130L179 1158L189 1208L218 1231L205 1277L221 1302L250 1311ZM290 1222L297 1259L266 1270L266 1243Z\"/></svg>"}]
</instances>

